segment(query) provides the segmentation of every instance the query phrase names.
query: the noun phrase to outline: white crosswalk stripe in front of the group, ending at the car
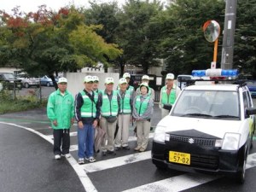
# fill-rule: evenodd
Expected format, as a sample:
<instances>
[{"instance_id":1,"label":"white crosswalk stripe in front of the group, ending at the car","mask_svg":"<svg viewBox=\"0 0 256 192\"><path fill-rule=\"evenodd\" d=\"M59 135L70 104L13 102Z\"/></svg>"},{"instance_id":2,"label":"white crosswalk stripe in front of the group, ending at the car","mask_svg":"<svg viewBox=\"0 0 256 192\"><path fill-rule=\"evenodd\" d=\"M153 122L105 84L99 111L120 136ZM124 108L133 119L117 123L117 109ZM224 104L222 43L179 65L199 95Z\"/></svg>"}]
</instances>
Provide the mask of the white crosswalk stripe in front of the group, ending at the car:
<instances>
[{"instance_id":1,"label":"white crosswalk stripe in front of the group, ending at the car","mask_svg":"<svg viewBox=\"0 0 256 192\"><path fill-rule=\"evenodd\" d=\"M151 151L146 151L142 153L136 154L128 154L125 156L109 159L109 160L101 160L95 163L84 164L83 169L84 172L99 172L102 170L110 169L117 166L125 166L127 164L135 163L141 160L148 160L151 158Z\"/></svg>"}]
</instances>

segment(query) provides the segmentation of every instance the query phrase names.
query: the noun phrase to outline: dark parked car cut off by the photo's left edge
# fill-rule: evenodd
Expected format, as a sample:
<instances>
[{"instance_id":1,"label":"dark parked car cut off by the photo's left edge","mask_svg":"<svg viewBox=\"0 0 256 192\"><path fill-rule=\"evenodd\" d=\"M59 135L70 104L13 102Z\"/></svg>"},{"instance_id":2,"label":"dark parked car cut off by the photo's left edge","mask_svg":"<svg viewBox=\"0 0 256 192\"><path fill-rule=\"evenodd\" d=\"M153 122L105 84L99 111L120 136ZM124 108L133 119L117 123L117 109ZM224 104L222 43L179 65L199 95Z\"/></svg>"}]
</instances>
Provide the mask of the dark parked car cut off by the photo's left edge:
<instances>
[{"instance_id":1,"label":"dark parked car cut off by the photo's left edge","mask_svg":"<svg viewBox=\"0 0 256 192\"><path fill-rule=\"evenodd\" d=\"M0 84L2 89L13 90L14 87L22 89L21 80L16 79L14 73L0 73Z\"/></svg>"}]
</instances>

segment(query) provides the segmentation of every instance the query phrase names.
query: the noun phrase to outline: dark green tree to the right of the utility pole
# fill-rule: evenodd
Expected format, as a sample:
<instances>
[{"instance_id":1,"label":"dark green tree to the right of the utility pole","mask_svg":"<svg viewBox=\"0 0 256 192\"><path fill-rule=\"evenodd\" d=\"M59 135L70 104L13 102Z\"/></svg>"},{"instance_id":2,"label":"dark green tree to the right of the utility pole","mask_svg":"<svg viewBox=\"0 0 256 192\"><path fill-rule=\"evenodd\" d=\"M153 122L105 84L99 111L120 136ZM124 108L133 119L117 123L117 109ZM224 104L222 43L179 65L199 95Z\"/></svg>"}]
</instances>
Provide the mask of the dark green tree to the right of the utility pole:
<instances>
[{"instance_id":1,"label":"dark green tree to the right of the utility pole","mask_svg":"<svg viewBox=\"0 0 256 192\"><path fill-rule=\"evenodd\" d=\"M256 1L237 1L234 67L256 79Z\"/></svg>"}]
</instances>

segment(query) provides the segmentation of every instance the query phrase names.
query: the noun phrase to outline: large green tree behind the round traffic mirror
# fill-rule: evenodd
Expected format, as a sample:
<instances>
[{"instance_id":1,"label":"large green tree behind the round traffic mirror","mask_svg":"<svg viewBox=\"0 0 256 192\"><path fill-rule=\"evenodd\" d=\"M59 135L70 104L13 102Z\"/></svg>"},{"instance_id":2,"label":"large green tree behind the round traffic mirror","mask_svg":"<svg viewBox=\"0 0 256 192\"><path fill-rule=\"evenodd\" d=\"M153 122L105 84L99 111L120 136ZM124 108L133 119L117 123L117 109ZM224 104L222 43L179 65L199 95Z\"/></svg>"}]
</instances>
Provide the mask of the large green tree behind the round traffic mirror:
<instances>
[{"instance_id":1,"label":"large green tree behind the round traffic mirror","mask_svg":"<svg viewBox=\"0 0 256 192\"><path fill-rule=\"evenodd\" d=\"M202 26L207 20L224 26L224 8L224 1L219 0L177 0L161 15L161 49L167 72L191 73L211 66L214 45L204 38ZM218 40L222 44L221 37ZM218 66L220 54L218 49Z\"/></svg>"}]
</instances>

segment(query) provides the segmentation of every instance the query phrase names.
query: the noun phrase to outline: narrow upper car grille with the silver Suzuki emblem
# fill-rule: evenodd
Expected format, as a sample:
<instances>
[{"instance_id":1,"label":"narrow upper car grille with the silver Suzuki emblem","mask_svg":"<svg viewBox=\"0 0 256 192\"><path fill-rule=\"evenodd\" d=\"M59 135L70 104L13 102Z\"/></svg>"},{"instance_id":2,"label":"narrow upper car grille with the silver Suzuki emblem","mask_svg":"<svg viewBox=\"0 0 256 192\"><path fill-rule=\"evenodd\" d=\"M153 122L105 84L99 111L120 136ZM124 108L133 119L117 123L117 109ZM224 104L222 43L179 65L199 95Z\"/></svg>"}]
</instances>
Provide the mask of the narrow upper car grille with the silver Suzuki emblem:
<instances>
[{"instance_id":1,"label":"narrow upper car grille with the silver Suzuki emblem","mask_svg":"<svg viewBox=\"0 0 256 192\"><path fill-rule=\"evenodd\" d=\"M177 135L170 135L170 142L181 142L181 143L191 143L200 146L214 147L215 139L208 138L196 138L196 137L184 137Z\"/></svg>"}]
</instances>

